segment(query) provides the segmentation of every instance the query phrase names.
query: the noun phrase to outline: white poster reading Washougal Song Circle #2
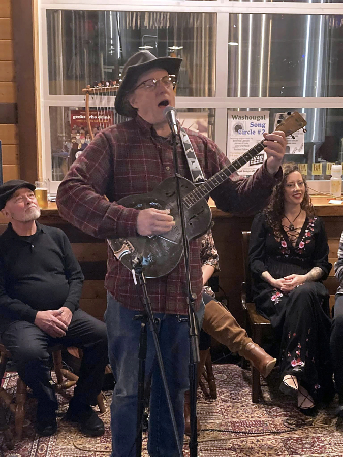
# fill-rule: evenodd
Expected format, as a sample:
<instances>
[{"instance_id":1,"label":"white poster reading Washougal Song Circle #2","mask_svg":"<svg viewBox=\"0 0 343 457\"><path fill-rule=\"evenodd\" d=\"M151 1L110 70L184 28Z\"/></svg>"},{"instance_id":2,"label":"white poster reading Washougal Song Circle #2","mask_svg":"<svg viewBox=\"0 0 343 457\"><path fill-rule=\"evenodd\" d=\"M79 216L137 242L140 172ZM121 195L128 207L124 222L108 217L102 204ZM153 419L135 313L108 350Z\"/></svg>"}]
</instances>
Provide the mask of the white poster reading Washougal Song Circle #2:
<instances>
[{"instance_id":1,"label":"white poster reading Washougal Song Circle #2","mask_svg":"<svg viewBox=\"0 0 343 457\"><path fill-rule=\"evenodd\" d=\"M269 111L229 111L228 112L228 158L233 162L244 152L262 141L268 132ZM252 175L261 167L266 154L261 152L238 170L243 176Z\"/></svg>"}]
</instances>

